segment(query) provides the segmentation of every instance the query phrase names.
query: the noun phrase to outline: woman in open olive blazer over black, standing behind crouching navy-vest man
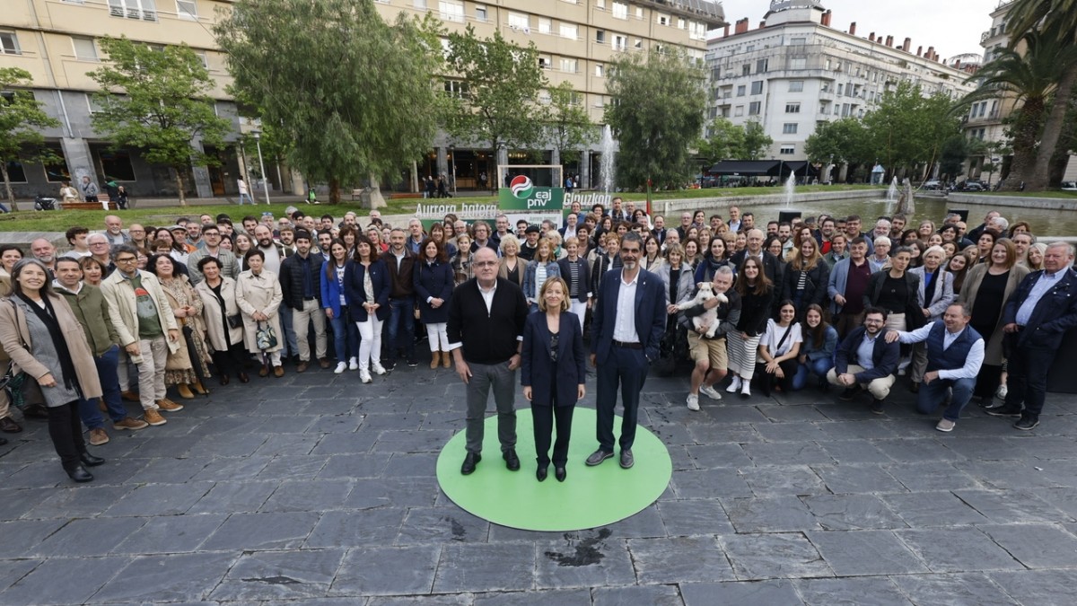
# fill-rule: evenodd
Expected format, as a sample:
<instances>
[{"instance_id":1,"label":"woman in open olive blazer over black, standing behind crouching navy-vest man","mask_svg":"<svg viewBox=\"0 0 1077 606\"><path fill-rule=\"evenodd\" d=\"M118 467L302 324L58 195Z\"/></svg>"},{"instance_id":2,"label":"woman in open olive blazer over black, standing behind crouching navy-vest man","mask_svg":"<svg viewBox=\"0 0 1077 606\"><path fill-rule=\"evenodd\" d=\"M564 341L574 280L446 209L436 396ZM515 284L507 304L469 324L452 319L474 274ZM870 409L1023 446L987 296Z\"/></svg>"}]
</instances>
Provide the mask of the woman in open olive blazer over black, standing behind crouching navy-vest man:
<instances>
[{"instance_id":1,"label":"woman in open olive blazer over black, standing behind crouching navy-vest man","mask_svg":"<svg viewBox=\"0 0 1077 606\"><path fill-rule=\"evenodd\" d=\"M973 396L981 398L983 402L990 402L998 388L1005 361L1002 318L1006 302L1029 272L1029 267L1017 264L1013 243L1008 238L999 238L991 248L988 261L969 270L965 284L961 287L957 301L968 304L973 309L968 326L984 340L983 364L976 378L976 388L973 389Z\"/></svg>"}]
</instances>

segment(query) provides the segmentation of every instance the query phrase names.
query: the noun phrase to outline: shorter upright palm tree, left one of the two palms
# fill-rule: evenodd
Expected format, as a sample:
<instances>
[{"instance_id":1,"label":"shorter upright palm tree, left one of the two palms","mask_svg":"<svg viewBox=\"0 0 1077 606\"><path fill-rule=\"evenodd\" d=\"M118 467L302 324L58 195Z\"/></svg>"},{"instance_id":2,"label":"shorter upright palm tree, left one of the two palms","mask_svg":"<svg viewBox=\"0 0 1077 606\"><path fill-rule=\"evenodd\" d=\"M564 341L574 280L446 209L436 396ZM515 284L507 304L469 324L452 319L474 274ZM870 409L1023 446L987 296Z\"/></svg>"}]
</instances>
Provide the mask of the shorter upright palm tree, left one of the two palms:
<instances>
[{"instance_id":1,"label":"shorter upright palm tree, left one of the two palms","mask_svg":"<svg viewBox=\"0 0 1077 606\"><path fill-rule=\"evenodd\" d=\"M1001 92L1013 95L1018 104L1009 127L1013 139L1013 164L1003 183L1005 190L1017 190L1022 181L1031 189L1044 116L1063 72L1077 61L1077 47L1063 42L1062 37L1049 29L1031 30L1020 40L1025 43L1024 52L1012 47L998 51L995 58L969 78L979 81L979 87L956 106L967 108L976 101L996 98Z\"/></svg>"}]
</instances>

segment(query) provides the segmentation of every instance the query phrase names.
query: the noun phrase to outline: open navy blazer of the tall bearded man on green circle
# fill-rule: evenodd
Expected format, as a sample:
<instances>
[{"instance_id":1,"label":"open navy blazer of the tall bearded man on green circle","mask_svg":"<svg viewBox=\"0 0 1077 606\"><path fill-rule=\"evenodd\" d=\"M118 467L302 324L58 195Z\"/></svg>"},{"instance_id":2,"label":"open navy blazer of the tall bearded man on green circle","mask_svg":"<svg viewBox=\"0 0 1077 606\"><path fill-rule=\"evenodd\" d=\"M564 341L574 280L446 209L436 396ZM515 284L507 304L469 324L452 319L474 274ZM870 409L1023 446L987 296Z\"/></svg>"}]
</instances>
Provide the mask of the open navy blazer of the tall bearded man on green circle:
<instances>
[{"instance_id":1,"label":"open navy blazer of the tall bearded man on green circle","mask_svg":"<svg viewBox=\"0 0 1077 606\"><path fill-rule=\"evenodd\" d=\"M604 363L613 347L613 328L617 318L617 294L621 270L611 270L602 279L598 303L591 318L591 354ZM666 332L665 283L656 274L640 270L635 284L635 332L648 361L658 359L658 345Z\"/></svg>"}]
</instances>

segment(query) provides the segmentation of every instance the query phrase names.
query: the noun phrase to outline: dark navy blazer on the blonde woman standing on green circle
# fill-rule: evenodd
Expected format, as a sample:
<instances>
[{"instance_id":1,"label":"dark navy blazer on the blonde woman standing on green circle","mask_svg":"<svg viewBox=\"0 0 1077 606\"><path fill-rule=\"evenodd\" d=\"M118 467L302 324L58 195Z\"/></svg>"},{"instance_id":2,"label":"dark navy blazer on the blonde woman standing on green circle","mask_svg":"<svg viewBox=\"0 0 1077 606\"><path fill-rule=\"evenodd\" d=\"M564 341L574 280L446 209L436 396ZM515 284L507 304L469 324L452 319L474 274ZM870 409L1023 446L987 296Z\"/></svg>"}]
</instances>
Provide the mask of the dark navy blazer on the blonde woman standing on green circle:
<instances>
[{"instance_id":1,"label":"dark navy blazer on the blonde woman standing on green circle","mask_svg":"<svg viewBox=\"0 0 1077 606\"><path fill-rule=\"evenodd\" d=\"M520 385L531 387L531 405L548 407L555 403L550 392L551 378L557 376L557 405L571 407L576 403L576 388L587 382L584 366L584 333L579 329L579 318L572 312L561 312L560 338L557 342L557 362L549 359L549 329L546 314L529 314L523 325L523 349L521 350Z\"/></svg>"}]
</instances>

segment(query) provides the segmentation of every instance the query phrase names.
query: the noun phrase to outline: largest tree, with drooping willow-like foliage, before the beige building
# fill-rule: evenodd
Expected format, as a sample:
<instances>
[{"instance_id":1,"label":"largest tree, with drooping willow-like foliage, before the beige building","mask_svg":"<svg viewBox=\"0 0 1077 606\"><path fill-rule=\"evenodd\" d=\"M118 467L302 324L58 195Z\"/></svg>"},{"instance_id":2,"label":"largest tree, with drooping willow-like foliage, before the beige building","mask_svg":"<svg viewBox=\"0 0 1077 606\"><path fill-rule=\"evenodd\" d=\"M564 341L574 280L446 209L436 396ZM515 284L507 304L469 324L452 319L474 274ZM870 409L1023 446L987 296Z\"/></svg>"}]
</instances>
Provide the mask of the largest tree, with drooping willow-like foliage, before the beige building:
<instances>
[{"instance_id":1,"label":"largest tree, with drooping willow-like foliage, before the beige building","mask_svg":"<svg viewBox=\"0 0 1077 606\"><path fill-rule=\"evenodd\" d=\"M238 0L214 26L234 91L290 144L313 181L341 184L410 169L437 133L442 70L434 17L392 25L373 0Z\"/></svg>"}]
</instances>

